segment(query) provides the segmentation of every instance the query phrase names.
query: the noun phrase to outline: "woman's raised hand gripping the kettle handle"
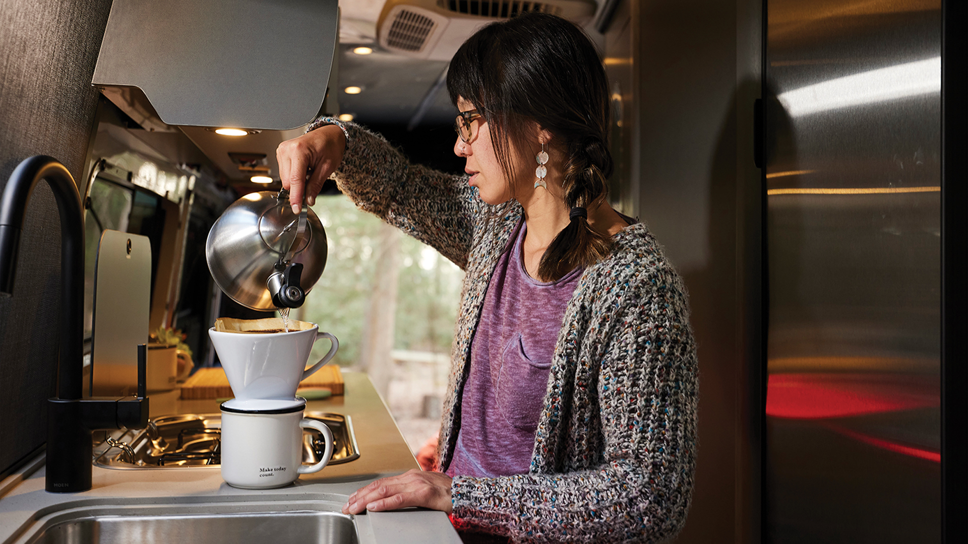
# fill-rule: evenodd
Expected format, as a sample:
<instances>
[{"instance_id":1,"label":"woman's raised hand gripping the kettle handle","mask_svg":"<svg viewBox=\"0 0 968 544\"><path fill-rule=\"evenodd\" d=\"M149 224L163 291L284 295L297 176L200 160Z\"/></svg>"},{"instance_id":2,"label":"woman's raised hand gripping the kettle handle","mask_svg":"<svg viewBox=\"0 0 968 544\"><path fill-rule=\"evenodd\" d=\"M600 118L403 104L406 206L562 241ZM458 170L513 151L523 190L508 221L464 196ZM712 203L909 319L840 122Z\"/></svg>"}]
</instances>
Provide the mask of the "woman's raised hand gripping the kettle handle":
<instances>
[{"instance_id":1,"label":"woman's raised hand gripping the kettle handle","mask_svg":"<svg viewBox=\"0 0 968 544\"><path fill-rule=\"evenodd\" d=\"M316 203L323 182L343 163L346 148L347 136L336 125L323 125L279 144L279 177L293 212L299 213L304 194L308 204Z\"/></svg>"}]
</instances>

